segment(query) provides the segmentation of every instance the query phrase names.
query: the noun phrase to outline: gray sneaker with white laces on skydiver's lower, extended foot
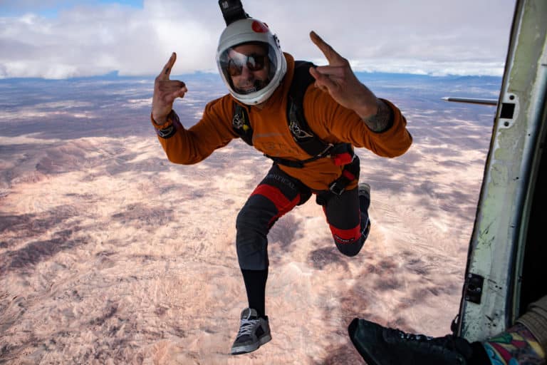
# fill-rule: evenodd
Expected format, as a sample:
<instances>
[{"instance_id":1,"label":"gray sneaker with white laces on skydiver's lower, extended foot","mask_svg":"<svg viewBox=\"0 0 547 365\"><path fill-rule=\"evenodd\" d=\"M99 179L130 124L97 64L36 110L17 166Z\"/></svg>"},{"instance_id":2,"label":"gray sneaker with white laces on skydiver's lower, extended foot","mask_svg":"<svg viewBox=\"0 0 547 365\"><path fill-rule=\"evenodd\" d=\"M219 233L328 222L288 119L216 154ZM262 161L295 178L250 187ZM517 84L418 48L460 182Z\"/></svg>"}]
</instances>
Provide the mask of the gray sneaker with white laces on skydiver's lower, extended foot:
<instances>
[{"instance_id":1,"label":"gray sneaker with white laces on skydiver's lower, extended foot","mask_svg":"<svg viewBox=\"0 0 547 365\"><path fill-rule=\"evenodd\" d=\"M268 317L261 318L256 310L245 308L241 312L241 324L236 341L231 345L231 354L246 354L271 340Z\"/></svg>"}]
</instances>

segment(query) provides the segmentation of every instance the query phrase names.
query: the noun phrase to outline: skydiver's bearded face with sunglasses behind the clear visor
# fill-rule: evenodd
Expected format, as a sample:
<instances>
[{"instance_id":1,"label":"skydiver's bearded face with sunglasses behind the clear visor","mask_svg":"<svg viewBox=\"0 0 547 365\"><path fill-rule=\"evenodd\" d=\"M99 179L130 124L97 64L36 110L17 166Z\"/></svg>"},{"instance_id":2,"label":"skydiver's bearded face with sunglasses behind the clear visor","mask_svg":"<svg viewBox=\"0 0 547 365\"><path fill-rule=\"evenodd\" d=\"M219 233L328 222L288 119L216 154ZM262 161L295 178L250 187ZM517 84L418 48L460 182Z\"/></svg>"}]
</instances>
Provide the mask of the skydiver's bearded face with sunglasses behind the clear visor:
<instances>
[{"instance_id":1,"label":"skydiver's bearded face with sunglasses behind the clear visor","mask_svg":"<svg viewBox=\"0 0 547 365\"><path fill-rule=\"evenodd\" d=\"M264 46L240 44L231 48L228 56L231 81L238 91L251 93L269 83L270 65Z\"/></svg>"}]
</instances>

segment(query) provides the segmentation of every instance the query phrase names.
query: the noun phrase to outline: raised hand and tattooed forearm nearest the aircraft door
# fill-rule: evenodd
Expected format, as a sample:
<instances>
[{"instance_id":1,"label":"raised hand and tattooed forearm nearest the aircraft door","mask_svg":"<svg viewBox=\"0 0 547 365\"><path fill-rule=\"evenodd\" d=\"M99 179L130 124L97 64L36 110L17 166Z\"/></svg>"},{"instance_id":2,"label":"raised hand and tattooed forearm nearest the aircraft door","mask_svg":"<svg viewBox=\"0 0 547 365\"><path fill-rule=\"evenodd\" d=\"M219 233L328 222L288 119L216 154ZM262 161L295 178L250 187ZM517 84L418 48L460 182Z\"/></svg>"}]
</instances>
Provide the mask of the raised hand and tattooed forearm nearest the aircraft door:
<instances>
[{"instance_id":1,"label":"raised hand and tattooed forearm nearest the aircraft door","mask_svg":"<svg viewBox=\"0 0 547 365\"><path fill-rule=\"evenodd\" d=\"M363 119L375 115L378 108L377 98L360 83L348 60L325 43L316 32L311 31L310 38L328 61L328 66L310 68L311 75L316 78L316 87L329 93L341 106L354 110Z\"/></svg>"}]
</instances>

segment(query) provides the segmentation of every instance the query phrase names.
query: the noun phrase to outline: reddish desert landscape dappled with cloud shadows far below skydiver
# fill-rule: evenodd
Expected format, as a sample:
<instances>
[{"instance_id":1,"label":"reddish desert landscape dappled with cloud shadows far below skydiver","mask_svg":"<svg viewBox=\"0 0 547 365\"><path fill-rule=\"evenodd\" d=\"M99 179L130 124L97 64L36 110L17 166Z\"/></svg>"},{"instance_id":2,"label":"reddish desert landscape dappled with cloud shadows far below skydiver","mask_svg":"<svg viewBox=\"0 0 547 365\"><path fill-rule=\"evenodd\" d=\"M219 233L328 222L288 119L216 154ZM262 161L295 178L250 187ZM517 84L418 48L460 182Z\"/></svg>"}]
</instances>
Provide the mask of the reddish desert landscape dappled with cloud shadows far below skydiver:
<instances>
[{"instance_id":1,"label":"reddish desert landscape dappled with cloud shadows far below skydiver","mask_svg":"<svg viewBox=\"0 0 547 365\"><path fill-rule=\"evenodd\" d=\"M271 162L239 140L170 163L152 78L0 80L0 364L365 364L361 317L441 336L459 309L501 78L360 74L400 107L400 158L358 150L372 230L340 255L313 199L269 234L272 340L229 355L246 307L235 218ZM185 126L222 95L182 76Z\"/></svg>"}]
</instances>

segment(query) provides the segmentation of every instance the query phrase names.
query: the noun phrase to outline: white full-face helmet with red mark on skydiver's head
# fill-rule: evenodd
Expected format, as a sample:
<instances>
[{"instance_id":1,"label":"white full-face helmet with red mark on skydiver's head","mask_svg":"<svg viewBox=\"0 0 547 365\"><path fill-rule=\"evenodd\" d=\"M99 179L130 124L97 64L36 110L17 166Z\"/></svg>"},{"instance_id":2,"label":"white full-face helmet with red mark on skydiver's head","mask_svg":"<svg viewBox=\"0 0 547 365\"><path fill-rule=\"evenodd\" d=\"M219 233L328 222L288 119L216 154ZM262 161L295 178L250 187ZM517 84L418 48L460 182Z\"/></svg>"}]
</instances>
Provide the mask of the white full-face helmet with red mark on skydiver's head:
<instances>
[{"instance_id":1,"label":"white full-face helmet with red mark on skydiver's head","mask_svg":"<svg viewBox=\"0 0 547 365\"><path fill-rule=\"evenodd\" d=\"M253 55L242 55L232 49L232 47L238 46L241 43L264 45L264 50L268 50L267 58L255 60ZM234 58L234 56L236 57ZM236 63L235 68L234 61ZM268 63L269 66L269 75L266 81L256 81L254 88L250 90L241 90L234 86L231 81L230 71L232 73L241 72L242 65L246 65L251 70L254 67L260 70L265 66L264 63ZM281 83L287 71L287 62L279 46L277 36L271 33L266 24L252 18L239 19L226 26L219 39L217 66L231 95L241 101L241 103L247 105L259 104L266 101L273 91L276 90L279 83Z\"/></svg>"}]
</instances>

